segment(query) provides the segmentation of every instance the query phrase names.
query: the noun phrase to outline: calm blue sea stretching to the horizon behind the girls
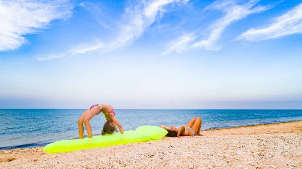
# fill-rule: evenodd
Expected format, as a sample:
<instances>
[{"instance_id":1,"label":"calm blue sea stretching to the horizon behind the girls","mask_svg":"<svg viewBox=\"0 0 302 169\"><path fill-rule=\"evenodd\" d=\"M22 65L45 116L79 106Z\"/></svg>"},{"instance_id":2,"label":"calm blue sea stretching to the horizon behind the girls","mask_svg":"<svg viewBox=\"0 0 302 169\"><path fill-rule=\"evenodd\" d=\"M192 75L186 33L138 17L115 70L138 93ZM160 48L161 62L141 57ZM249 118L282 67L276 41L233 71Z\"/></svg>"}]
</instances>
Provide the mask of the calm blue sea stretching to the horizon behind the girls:
<instances>
[{"instance_id":1,"label":"calm blue sea stretching to the horizon behind the girls","mask_svg":"<svg viewBox=\"0 0 302 169\"><path fill-rule=\"evenodd\" d=\"M79 137L81 109L0 109L0 150L47 145ZM186 125L201 117L201 130L302 120L302 110L115 110L124 131L143 125ZM105 123L100 113L90 121L93 135ZM84 135L87 137L86 130Z\"/></svg>"}]
</instances>

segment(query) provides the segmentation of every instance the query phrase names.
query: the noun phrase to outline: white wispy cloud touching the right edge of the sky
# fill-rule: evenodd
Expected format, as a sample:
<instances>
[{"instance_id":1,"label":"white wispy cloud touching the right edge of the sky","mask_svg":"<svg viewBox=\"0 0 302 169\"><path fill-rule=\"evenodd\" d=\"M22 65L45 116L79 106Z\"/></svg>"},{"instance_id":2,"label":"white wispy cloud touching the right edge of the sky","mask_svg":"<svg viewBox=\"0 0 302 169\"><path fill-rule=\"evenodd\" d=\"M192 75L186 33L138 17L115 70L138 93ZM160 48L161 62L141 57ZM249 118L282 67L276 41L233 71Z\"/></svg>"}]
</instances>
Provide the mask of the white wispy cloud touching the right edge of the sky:
<instances>
[{"instance_id":1,"label":"white wispy cloud touching the right edge of the sky","mask_svg":"<svg viewBox=\"0 0 302 169\"><path fill-rule=\"evenodd\" d=\"M302 4L289 10L282 16L273 19L270 25L258 29L250 29L237 39L247 41L260 41L278 38L291 34L302 33Z\"/></svg>"}]
</instances>

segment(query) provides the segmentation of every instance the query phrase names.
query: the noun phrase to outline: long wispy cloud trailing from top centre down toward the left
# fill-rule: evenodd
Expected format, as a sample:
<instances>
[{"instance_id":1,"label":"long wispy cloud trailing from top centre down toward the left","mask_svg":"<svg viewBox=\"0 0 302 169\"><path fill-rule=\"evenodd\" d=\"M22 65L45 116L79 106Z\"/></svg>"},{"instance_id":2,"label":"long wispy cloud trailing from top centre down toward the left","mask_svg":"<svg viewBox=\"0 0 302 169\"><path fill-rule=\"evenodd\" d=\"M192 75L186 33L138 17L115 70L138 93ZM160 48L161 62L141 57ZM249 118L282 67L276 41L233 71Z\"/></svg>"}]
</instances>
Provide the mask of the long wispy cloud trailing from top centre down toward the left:
<instances>
[{"instance_id":1,"label":"long wispy cloud trailing from top centre down toward the left","mask_svg":"<svg viewBox=\"0 0 302 169\"><path fill-rule=\"evenodd\" d=\"M122 22L119 24L118 34L114 40L104 43L96 42L73 47L69 51L46 57L38 57L37 60L48 60L59 57L70 57L75 54L86 53L93 50L110 52L122 46L128 45L138 39L150 25L152 25L159 13L166 12L163 8L169 4L185 5L188 0L156 0L139 1L125 8Z\"/></svg>"}]
</instances>

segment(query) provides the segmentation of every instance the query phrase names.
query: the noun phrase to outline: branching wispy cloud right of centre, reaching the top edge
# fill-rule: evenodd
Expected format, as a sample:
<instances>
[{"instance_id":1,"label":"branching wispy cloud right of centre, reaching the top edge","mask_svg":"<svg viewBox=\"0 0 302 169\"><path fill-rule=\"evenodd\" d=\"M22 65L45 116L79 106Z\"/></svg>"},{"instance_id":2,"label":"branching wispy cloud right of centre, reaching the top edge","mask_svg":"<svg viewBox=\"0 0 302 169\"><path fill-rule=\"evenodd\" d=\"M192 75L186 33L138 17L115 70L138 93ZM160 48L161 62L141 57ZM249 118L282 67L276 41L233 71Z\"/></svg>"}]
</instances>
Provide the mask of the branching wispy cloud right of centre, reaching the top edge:
<instances>
[{"instance_id":1,"label":"branching wispy cloud right of centre, reaching the top edge","mask_svg":"<svg viewBox=\"0 0 302 169\"><path fill-rule=\"evenodd\" d=\"M163 54L168 54L173 51L179 53L195 48L219 50L221 47L216 45L216 42L226 27L238 20L246 18L250 14L260 13L271 8L270 6L256 6L258 2L259 0L251 0L244 4L238 4L237 1L215 1L213 4L207 6L205 11L219 10L225 15L209 26L207 29L209 30L209 36L202 38L204 32L201 32L200 28L199 30L171 41L169 47Z\"/></svg>"}]
</instances>

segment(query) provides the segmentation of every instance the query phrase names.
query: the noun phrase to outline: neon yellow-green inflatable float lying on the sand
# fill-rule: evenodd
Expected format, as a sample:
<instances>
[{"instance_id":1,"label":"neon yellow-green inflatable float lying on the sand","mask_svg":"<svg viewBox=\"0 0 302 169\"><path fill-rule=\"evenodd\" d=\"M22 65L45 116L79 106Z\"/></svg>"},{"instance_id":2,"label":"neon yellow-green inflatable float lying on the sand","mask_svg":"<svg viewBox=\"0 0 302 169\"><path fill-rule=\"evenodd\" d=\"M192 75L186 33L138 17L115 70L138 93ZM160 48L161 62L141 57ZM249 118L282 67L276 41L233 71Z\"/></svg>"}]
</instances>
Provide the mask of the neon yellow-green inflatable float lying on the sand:
<instances>
[{"instance_id":1,"label":"neon yellow-green inflatable float lying on the sand","mask_svg":"<svg viewBox=\"0 0 302 169\"><path fill-rule=\"evenodd\" d=\"M96 147L107 147L146 140L158 140L164 137L167 133L167 130L157 126L140 126L135 131L125 131L124 134L116 133L112 135L94 136L92 138L56 141L47 144L43 150L48 153L57 153Z\"/></svg>"}]
</instances>

